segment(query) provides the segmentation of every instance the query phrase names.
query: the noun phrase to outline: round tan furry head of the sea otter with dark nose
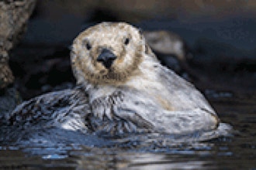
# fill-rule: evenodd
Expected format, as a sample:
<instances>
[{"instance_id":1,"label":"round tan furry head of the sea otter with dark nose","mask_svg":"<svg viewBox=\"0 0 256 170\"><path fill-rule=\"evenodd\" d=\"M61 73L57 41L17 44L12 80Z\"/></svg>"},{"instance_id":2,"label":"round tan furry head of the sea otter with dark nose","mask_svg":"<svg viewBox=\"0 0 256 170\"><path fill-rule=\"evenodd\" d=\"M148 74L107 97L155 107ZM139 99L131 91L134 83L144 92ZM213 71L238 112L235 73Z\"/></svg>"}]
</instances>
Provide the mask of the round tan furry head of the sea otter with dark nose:
<instances>
[{"instance_id":1,"label":"round tan furry head of the sea otter with dark nose","mask_svg":"<svg viewBox=\"0 0 256 170\"><path fill-rule=\"evenodd\" d=\"M138 71L144 37L126 23L102 22L74 39L71 63L78 83L123 83Z\"/></svg>"}]
</instances>

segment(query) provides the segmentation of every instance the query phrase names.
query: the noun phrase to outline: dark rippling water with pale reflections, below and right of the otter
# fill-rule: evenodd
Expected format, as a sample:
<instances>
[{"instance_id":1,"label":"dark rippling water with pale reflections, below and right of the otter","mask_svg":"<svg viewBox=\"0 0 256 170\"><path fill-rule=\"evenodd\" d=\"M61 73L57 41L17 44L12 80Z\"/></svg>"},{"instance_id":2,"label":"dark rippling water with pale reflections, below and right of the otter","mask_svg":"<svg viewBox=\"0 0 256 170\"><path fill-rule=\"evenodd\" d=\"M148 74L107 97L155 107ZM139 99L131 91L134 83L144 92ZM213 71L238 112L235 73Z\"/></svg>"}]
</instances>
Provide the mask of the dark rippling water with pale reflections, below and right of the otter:
<instances>
[{"instance_id":1,"label":"dark rippling water with pale reflections, below and right of the otter","mask_svg":"<svg viewBox=\"0 0 256 170\"><path fill-rule=\"evenodd\" d=\"M2 144L0 168L53 169L175 169L175 168L256 168L256 105L254 99L212 98L223 122L237 130L234 136L211 141L176 143L123 142L104 146L84 143L67 145L40 143ZM71 141L76 140L71 136ZM91 137L88 137L91 138ZM98 141L99 138L95 138ZM84 144L84 145L81 145Z\"/></svg>"}]
</instances>

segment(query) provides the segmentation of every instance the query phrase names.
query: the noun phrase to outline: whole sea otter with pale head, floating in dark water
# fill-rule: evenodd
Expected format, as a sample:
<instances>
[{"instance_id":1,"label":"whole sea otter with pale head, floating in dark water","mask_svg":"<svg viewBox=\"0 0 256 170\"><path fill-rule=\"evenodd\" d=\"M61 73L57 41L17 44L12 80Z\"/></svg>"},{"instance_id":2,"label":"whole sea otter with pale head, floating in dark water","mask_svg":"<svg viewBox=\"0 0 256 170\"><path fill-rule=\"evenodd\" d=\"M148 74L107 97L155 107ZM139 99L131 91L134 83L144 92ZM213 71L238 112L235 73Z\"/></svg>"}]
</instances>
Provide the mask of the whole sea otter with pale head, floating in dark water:
<instances>
[{"instance_id":1,"label":"whole sea otter with pale head, floating in dark water","mask_svg":"<svg viewBox=\"0 0 256 170\"><path fill-rule=\"evenodd\" d=\"M139 29L102 22L71 46L74 89L25 101L6 119L26 128L85 133L188 134L220 120L199 90L161 65Z\"/></svg>"}]
</instances>

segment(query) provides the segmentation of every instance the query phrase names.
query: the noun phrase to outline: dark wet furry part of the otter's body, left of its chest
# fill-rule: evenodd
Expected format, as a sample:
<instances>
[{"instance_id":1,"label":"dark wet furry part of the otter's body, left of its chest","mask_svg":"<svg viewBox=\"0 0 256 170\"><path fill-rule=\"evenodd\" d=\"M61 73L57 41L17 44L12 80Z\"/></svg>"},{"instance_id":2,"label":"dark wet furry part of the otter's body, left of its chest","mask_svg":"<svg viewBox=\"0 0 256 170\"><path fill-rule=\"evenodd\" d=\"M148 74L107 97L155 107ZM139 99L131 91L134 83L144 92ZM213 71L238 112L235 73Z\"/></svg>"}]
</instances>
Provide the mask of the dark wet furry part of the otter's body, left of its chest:
<instances>
[{"instance_id":1,"label":"dark wet furry part of the otter's body, left of its chest","mask_svg":"<svg viewBox=\"0 0 256 170\"><path fill-rule=\"evenodd\" d=\"M57 117L58 113L81 111L81 106L88 108L88 97L80 88L60 90L24 101L6 116L6 120L7 124L36 124Z\"/></svg>"}]
</instances>

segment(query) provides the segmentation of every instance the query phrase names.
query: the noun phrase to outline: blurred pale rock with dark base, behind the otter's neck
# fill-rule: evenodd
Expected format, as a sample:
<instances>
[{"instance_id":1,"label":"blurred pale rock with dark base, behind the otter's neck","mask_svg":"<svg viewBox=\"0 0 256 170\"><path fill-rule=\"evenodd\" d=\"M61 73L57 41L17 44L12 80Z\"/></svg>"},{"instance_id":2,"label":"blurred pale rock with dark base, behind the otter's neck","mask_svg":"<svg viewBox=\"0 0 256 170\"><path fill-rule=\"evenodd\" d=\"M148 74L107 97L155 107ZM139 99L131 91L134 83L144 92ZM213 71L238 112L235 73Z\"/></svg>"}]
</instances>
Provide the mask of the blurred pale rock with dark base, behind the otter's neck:
<instances>
[{"instance_id":1,"label":"blurred pale rock with dark base, behind the otter's neck","mask_svg":"<svg viewBox=\"0 0 256 170\"><path fill-rule=\"evenodd\" d=\"M195 73L189 67L192 53L181 36L166 30L144 31L143 33L148 45L164 66L168 66L186 80L191 81L190 76L195 78Z\"/></svg>"}]
</instances>

